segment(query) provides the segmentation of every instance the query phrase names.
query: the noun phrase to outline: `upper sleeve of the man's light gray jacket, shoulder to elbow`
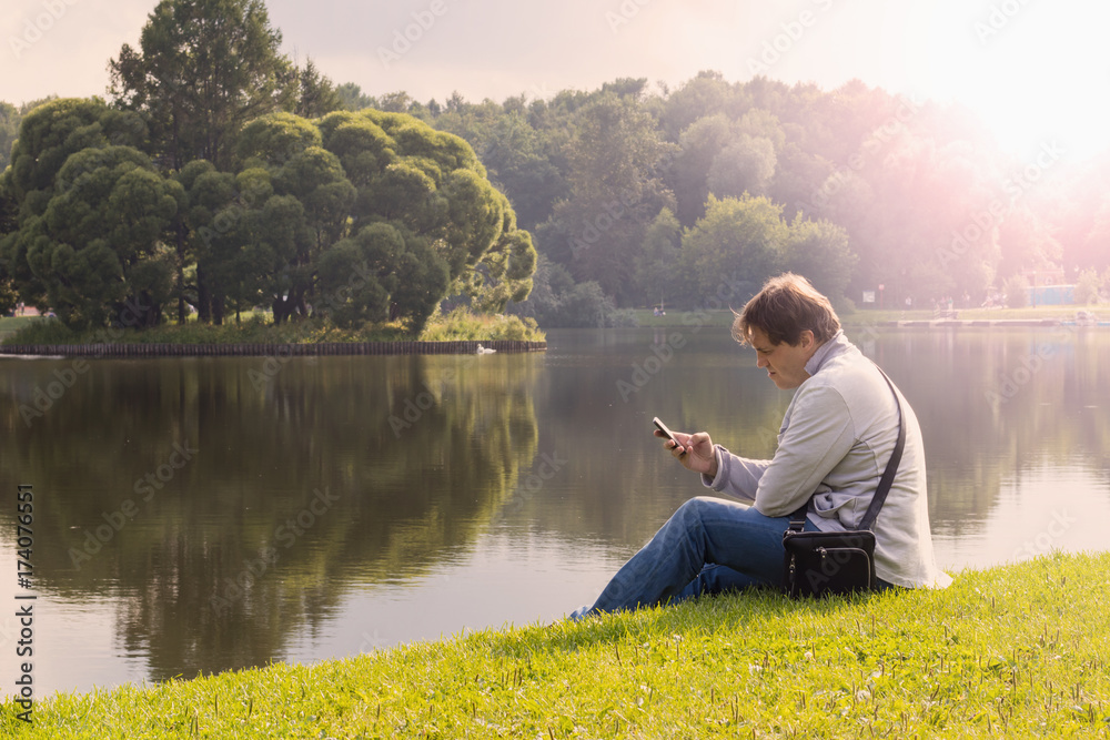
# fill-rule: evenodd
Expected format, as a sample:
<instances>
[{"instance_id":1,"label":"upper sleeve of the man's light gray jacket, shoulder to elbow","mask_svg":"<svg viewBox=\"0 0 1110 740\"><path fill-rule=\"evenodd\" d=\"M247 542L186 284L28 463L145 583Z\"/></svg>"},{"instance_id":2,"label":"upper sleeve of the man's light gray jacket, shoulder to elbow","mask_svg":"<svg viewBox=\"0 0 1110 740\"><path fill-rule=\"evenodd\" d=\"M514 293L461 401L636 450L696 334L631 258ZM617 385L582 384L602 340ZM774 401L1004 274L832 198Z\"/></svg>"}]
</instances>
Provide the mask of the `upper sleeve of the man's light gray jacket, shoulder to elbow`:
<instances>
[{"instance_id":1,"label":"upper sleeve of the man's light gray jacket, shoulder to elbow","mask_svg":"<svg viewBox=\"0 0 1110 740\"><path fill-rule=\"evenodd\" d=\"M775 457L756 486L756 510L768 517L796 511L855 442L848 405L835 388L825 385L798 388L789 419Z\"/></svg>"}]
</instances>

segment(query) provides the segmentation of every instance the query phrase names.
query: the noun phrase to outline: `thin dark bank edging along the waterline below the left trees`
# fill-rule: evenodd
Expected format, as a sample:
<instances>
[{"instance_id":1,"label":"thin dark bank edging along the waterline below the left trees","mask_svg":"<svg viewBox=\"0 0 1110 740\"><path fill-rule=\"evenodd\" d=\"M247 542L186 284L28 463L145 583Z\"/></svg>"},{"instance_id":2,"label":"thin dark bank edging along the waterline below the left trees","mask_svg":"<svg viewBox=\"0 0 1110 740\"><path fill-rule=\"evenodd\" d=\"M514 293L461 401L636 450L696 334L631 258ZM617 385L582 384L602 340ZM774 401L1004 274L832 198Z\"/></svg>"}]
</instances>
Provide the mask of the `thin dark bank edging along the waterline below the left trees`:
<instances>
[{"instance_id":1,"label":"thin dark bank edging along the waterline below the left trees","mask_svg":"<svg viewBox=\"0 0 1110 740\"><path fill-rule=\"evenodd\" d=\"M450 342L317 342L303 344L7 344L0 355L18 357L322 357L335 355L473 355L478 347L518 354L546 352L546 342L455 339Z\"/></svg>"}]
</instances>

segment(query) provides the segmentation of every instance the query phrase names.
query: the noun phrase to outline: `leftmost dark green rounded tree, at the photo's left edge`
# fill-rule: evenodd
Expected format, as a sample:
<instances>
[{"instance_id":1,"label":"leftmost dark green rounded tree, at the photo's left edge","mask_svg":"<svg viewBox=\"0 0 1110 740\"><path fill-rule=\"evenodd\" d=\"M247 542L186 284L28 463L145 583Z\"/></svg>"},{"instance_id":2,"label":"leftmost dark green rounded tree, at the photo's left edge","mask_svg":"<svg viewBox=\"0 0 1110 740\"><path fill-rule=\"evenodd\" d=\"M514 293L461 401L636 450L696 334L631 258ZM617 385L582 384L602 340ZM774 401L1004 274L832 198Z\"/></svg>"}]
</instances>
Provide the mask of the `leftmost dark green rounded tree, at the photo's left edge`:
<instances>
[{"instance_id":1,"label":"leftmost dark green rounded tree, at the photo's left edge","mask_svg":"<svg viewBox=\"0 0 1110 740\"><path fill-rule=\"evenodd\" d=\"M20 296L70 326L161 320L172 292L164 235L182 192L135 146L132 116L99 100L57 100L20 126L0 187L19 206L0 253Z\"/></svg>"}]
</instances>

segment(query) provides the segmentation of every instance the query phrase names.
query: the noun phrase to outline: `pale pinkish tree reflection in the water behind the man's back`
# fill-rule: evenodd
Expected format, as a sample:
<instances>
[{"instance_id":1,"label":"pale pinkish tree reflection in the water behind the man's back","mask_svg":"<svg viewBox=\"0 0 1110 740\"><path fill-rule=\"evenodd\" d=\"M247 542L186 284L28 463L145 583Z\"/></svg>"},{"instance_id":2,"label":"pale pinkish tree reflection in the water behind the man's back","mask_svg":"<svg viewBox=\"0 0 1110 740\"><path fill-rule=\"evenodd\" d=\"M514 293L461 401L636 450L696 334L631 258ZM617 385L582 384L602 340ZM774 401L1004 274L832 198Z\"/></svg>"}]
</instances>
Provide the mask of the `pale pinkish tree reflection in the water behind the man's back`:
<instances>
[{"instance_id":1,"label":"pale pinkish tree reflection in the water behind the man's back","mask_svg":"<svg viewBox=\"0 0 1110 740\"><path fill-rule=\"evenodd\" d=\"M1098 382L1108 339L1067 327L885 335L878 359L925 434L934 523L977 529L1005 480L1046 462L1079 456L1106 477L1110 417L1088 406L1108 399Z\"/></svg>"}]
</instances>

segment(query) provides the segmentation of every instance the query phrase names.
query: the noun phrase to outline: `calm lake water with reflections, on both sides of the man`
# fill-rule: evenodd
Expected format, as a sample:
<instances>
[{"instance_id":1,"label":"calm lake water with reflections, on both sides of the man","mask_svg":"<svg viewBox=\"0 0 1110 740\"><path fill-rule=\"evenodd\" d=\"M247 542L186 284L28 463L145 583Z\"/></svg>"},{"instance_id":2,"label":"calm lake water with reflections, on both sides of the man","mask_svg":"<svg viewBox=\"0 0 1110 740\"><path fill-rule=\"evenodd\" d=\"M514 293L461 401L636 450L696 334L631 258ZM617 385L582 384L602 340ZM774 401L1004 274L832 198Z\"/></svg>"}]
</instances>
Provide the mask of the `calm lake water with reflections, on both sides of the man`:
<instances>
[{"instance_id":1,"label":"calm lake water with reflections, on both sides of the man","mask_svg":"<svg viewBox=\"0 0 1110 740\"><path fill-rule=\"evenodd\" d=\"M1110 332L848 334L921 422L942 567L1107 546ZM790 394L725 330L548 343L0 361L0 692L21 660L17 595L38 597L38 697L552 621L707 493L653 416L747 456L774 449ZM30 590L20 484L34 495Z\"/></svg>"}]
</instances>

